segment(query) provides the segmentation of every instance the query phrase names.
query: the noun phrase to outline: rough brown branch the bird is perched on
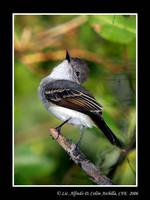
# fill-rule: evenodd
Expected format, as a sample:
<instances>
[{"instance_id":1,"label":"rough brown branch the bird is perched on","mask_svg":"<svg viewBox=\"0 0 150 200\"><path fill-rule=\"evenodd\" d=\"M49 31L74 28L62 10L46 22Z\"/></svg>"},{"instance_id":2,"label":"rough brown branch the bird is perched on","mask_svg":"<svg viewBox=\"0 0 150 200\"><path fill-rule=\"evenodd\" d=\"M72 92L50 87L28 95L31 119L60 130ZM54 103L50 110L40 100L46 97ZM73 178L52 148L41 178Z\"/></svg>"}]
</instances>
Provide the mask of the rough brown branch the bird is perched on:
<instances>
[{"instance_id":1,"label":"rough brown branch the bird is perched on","mask_svg":"<svg viewBox=\"0 0 150 200\"><path fill-rule=\"evenodd\" d=\"M50 128L50 134L58 142L58 144L70 155L71 159L78 164L82 170L92 179L97 185L112 185L109 178L102 175L99 169L89 161L86 156L77 148L76 144L58 134L57 130Z\"/></svg>"}]
</instances>

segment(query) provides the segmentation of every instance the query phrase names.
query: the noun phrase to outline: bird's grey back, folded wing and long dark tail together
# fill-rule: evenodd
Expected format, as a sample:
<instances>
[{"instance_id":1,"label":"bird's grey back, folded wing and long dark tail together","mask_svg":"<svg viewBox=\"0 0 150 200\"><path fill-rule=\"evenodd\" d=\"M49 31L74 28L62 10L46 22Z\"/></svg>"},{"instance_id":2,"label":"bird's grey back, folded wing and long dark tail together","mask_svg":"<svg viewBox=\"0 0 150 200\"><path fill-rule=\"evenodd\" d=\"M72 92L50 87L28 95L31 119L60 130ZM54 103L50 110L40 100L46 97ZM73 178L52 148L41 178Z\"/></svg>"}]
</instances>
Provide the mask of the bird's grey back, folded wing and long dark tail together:
<instances>
[{"instance_id":1,"label":"bird's grey back, folded wing and long dark tail together","mask_svg":"<svg viewBox=\"0 0 150 200\"><path fill-rule=\"evenodd\" d=\"M101 115L102 106L83 87L71 81L54 81L44 87L44 95L48 102L89 115L108 140L121 147L120 141Z\"/></svg>"}]
</instances>

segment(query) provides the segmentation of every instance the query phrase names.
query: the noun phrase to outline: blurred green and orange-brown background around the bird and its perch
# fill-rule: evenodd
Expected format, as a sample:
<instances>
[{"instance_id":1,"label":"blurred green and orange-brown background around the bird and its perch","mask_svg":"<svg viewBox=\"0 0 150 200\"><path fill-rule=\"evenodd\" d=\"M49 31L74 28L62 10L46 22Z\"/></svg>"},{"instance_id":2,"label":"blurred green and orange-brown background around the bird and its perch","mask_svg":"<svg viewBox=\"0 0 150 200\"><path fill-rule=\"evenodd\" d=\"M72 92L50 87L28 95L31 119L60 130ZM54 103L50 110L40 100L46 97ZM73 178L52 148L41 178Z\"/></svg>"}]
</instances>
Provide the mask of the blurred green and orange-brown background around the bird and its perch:
<instances>
[{"instance_id":1,"label":"blurred green and orange-brown background around the bird and its perch","mask_svg":"<svg viewBox=\"0 0 150 200\"><path fill-rule=\"evenodd\" d=\"M38 97L40 80L65 58L84 59L84 84L104 107L104 118L127 146L122 153L97 129L85 131L81 150L114 184L136 184L136 16L14 16L14 184L93 184L52 140L61 121ZM65 125L76 142L79 129Z\"/></svg>"}]
</instances>

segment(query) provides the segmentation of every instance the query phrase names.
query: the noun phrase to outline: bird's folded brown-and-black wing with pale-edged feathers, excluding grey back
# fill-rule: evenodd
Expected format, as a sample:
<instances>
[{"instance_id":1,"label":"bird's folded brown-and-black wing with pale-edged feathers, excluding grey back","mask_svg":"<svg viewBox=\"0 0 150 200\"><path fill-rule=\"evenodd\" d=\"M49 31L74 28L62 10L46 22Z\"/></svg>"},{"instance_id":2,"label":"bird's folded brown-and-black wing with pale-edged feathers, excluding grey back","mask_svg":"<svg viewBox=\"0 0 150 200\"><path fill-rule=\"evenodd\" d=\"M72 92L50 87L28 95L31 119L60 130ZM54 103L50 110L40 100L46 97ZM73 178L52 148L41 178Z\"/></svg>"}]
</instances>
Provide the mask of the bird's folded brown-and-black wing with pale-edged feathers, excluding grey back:
<instances>
[{"instance_id":1,"label":"bird's folded brown-and-black wing with pale-edged feathers, excluding grey back","mask_svg":"<svg viewBox=\"0 0 150 200\"><path fill-rule=\"evenodd\" d=\"M94 97L81 91L65 88L45 90L46 99L56 105L74 109L83 113L102 112L102 106L96 102Z\"/></svg>"}]
</instances>

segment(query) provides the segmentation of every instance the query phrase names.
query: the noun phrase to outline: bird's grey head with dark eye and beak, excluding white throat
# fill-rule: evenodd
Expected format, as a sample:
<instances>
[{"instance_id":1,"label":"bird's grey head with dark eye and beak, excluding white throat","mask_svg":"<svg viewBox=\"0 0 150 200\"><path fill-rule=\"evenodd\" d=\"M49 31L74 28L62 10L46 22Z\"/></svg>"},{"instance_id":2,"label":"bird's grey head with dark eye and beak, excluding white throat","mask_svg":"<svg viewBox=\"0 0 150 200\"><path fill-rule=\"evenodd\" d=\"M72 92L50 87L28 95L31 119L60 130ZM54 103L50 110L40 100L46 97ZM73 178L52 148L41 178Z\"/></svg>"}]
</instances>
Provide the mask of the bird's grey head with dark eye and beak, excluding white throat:
<instances>
[{"instance_id":1,"label":"bird's grey head with dark eye and beak, excluding white throat","mask_svg":"<svg viewBox=\"0 0 150 200\"><path fill-rule=\"evenodd\" d=\"M85 82L88 78L88 65L86 62L80 58L72 58L68 51L66 51L66 60L73 69L72 76L74 81L79 84Z\"/></svg>"}]
</instances>

